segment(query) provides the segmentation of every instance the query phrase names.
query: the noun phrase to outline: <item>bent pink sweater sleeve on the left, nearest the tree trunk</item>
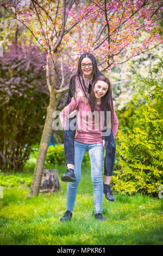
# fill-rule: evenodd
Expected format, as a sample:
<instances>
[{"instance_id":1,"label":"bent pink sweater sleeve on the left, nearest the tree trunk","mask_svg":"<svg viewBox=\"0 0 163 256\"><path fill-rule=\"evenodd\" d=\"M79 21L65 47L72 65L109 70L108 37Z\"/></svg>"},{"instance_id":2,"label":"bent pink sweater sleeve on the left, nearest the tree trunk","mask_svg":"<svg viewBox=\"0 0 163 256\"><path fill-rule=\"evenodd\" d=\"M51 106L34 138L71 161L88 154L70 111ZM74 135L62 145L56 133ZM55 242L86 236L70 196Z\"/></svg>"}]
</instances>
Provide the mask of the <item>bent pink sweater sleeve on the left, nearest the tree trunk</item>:
<instances>
[{"instance_id":1,"label":"bent pink sweater sleeve on the left, nearest the tree trunk","mask_svg":"<svg viewBox=\"0 0 163 256\"><path fill-rule=\"evenodd\" d=\"M71 112L73 112L74 110L77 110L78 108L78 103L79 103L79 97L76 98L76 100L73 100L72 102L70 102L64 109L62 109L62 111L59 114L59 118L61 121L61 125L63 127L63 129L65 130L65 126L66 126L66 121L68 119L68 116Z\"/></svg>"}]
</instances>

